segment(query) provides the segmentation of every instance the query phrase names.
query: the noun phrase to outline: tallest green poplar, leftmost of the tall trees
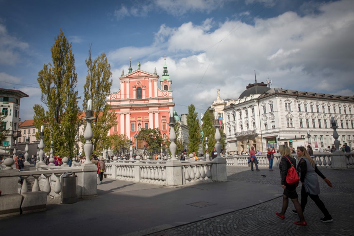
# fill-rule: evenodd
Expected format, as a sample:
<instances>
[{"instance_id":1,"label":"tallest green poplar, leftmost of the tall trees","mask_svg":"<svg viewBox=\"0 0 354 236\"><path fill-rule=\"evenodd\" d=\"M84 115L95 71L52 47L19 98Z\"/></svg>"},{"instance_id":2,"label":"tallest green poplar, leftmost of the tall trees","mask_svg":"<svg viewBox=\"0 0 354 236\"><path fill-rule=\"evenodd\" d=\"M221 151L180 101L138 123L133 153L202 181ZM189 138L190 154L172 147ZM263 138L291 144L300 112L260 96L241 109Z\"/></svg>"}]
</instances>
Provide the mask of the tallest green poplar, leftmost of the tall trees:
<instances>
[{"instance_id":1,"label":"tallest green poplar, leftmost of the tall trees","mask_svg":"<svg viewBox=\"0 0 354 236\"><path fill-rule=\"evenodd\" d=\"M41 101L45 104L46 111L41 105L35 105L33 120L38 129L47 124L45 151L50 149L50 140L53 140L56 155L73 157L80 97L76 90L78 78L72 45L61 29L51 47L51 54L52 64L45 64L37 78L42 92Z\"/></svg>"}]
</instances>

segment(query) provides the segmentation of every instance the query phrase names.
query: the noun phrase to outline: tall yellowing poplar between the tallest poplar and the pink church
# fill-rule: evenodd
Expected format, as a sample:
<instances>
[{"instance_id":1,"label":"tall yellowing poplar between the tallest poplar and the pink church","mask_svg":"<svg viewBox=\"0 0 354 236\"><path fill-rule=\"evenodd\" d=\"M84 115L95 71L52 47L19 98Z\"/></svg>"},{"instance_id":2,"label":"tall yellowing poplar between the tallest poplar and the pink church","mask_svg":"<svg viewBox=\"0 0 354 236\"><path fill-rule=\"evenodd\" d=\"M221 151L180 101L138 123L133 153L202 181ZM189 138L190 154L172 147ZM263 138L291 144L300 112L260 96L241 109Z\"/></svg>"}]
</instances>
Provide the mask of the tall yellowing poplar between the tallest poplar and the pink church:
<instances>
[{"instance_id":1,"label":"tall yellowing poplar between the tallest poplar and the pink church","mask_svg":"<svg viewBox=\"0 0 354 236\"><path fill-rule=\"evenodd\" d=\"M87 107L87 101L92 100L93 117L95 120L91 123L93 152L98 153L105 149L109 143L107 136L110 128L116 125L116 115L110 111L110 105L106 103L106 96L110 94L112 86L112 73L110 64L104 53L101 53L95 60L91 58L91 47L89 49L89 58L85 60L87 65L86 84L84 85L84 109ZM85 124L86 126L86 124Z\"/></svg>"}]
</instances>

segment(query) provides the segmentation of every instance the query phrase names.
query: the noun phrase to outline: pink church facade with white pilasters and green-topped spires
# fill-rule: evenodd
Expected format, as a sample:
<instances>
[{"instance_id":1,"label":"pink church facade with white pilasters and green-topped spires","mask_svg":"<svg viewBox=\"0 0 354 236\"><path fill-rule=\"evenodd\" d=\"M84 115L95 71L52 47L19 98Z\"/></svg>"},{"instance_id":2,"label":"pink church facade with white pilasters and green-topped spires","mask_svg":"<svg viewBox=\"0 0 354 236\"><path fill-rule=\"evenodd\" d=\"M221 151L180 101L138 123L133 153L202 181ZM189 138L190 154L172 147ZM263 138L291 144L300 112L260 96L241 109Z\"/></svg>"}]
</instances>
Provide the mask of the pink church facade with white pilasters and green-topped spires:
<instances>
[{"instance_id":1,"label":"pink church facade with white pilasters and green-topped spires","mask_svg":"<svg viewBox=\"0 0 354 236\"><path fill-rule=\"evenodd\" d=\"M172 98L172 81L167 74L166 63L164 74L160 77L156 73L149 73L140 69L124 75L122 72L120 90L107 96L107 103L111 105L111 111L115 111L117 125L110 129L110 134L125 134L133 138L141 128L159 128L162 137L169 137L170 108L175 106ZM160 83L160 89L158 86ZM137 148L142 148L142 143L136 143Z\"/></svg>"}]
</instances>

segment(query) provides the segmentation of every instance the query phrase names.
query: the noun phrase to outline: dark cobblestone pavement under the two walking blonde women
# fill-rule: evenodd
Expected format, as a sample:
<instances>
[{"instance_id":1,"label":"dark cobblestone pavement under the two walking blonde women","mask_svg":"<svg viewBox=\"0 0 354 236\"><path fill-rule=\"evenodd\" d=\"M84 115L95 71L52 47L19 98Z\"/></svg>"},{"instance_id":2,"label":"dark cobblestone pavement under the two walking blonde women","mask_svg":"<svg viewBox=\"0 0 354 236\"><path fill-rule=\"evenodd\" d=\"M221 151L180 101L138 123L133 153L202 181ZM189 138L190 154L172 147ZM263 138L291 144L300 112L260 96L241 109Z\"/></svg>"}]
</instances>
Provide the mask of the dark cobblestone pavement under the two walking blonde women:
<instances>
[{"instance_id":1,"label":"dark cobblestone pavement under the two walking blonde women","mask_svg":"<svg viewBox=\"0 0 354 236\"><path fill-rule=\"evenodd\" d=\"M291 201L285 219L280 219L275 215L275 212L281 211L282 198L279 197L256 206L177 226L150 236L354 235L354 169L320 168L320 170L333 184L333 188L330 188L319 178L320 199L333 217L330 223L319 220L323 215L310 198L304 212L307 226L294 224L294 221L299 218L291 212L295 209ZM246 167L227 167L227 173L229 181L239 180L280 186L280 173L277 168L272 172L268 169L251 172ZM297 191L300 196L300 187Z\"/></svg>"}]
</instances>

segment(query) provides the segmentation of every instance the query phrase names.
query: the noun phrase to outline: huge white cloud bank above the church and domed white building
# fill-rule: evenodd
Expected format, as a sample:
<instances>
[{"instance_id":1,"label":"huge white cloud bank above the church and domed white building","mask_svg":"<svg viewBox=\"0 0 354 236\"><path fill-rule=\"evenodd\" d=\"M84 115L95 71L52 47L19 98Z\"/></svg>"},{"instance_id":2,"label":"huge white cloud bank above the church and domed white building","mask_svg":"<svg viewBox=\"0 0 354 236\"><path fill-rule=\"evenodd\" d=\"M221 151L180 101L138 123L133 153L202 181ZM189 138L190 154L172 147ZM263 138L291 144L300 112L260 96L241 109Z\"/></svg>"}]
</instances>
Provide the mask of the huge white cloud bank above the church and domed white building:
<instances>
[{"instance_id":1,"label":"huge white cloud bank above the church and domed white building","mask_svg":"<svg viewBox=\"0 0 354 236\"><path fill-rule=\"evenodd\" d=\"M127 73L129 56L133 70L139 60L143 70L153 72L156 67L161 75L162 55L166 54L174 101L183 105L177 106L182 113L191 103L197 108L209 107L218 88L222 98L238 98L254 82L254 70L258 82L269 77L272 87L353 96L354 51L350 49L354 1L318 7L317 14L285 12L269 19L255 18L254 25L236 20L217 22L213 31L211 18L200 25L161 25L151 46L108 53L109 60L120 65L119 69L114 67L114 78L118 80L122 69ZM119 86L117 81L116 91Z\"/></svg>"}]
</instances>

